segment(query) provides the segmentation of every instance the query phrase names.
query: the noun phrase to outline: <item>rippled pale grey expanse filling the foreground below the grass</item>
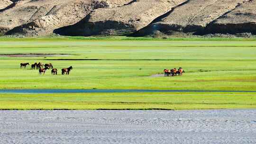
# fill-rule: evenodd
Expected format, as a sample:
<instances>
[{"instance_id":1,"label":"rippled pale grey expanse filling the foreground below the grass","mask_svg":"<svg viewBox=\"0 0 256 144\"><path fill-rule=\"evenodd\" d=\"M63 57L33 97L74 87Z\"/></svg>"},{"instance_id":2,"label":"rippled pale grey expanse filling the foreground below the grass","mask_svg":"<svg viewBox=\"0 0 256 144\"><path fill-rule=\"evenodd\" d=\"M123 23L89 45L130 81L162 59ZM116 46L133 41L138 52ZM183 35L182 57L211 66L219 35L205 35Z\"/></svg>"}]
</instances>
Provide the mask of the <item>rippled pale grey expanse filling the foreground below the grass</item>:
<instances>
[{"instance_id":1,"label":"rippled pale grey expanse filling the foreground below the grass","mask_svg":"<svg viewBox=\"0 0 256 144\"><path fill-rule=\"evenodd\" d=\"M256 109L0 111L0 144L256 144Z\"/></svg>"}]
</instances>

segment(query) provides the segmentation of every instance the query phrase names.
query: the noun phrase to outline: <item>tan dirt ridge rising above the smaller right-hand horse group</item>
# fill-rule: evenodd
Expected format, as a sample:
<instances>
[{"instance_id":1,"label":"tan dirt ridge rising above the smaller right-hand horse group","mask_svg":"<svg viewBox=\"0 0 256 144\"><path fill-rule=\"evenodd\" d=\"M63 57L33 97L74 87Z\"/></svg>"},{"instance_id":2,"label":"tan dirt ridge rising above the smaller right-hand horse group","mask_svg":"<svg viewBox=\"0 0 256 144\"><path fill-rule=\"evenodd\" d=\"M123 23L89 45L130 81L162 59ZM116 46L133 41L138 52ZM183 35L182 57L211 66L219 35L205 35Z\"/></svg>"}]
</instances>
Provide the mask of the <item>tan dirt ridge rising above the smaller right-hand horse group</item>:
<instances>
[{"instance_id":1,"label":"tan dirt ridge rising above the smaller right-hand horse group","mask_svg":"<svg viewBox=\"0 0 256 144\"><path fill-rule=\"evenodd\" d=\"M160 31L195 32L204 29L215 19L249 0L190 0L185 5L153 24Z\"/></svg>"}]
</instances>

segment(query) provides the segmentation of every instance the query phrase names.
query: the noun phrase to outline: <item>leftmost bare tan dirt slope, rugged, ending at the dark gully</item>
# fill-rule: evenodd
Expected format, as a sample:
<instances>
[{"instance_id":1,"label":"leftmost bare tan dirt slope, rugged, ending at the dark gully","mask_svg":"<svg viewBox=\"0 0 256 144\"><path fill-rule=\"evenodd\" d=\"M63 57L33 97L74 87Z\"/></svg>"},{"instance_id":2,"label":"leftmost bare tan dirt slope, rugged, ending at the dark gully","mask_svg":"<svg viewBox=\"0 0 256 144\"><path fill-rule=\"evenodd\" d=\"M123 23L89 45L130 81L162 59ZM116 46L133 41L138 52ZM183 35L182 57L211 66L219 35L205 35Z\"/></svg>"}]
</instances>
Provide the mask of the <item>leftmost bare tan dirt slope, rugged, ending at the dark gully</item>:
<instances>
[{"instance_id":1,"label":"leftmost bare tan dirt slope, rugged, ending at the dark gully","mask_svg":"<svg viewBox=\"0 0 256 144\"><path fill-rule=\"evenodd\" d=\"M86 17L93 9L116 7L130 0L22 0L0 13L0 30L7 34L47 35Z\"/></svg>"}]
</instances>

